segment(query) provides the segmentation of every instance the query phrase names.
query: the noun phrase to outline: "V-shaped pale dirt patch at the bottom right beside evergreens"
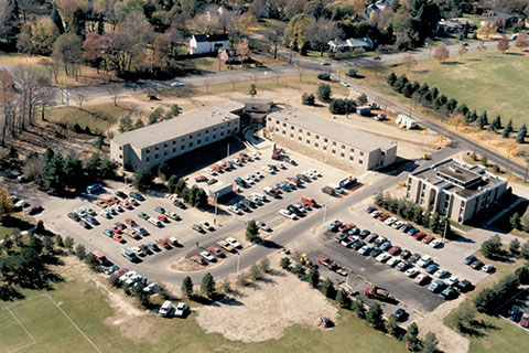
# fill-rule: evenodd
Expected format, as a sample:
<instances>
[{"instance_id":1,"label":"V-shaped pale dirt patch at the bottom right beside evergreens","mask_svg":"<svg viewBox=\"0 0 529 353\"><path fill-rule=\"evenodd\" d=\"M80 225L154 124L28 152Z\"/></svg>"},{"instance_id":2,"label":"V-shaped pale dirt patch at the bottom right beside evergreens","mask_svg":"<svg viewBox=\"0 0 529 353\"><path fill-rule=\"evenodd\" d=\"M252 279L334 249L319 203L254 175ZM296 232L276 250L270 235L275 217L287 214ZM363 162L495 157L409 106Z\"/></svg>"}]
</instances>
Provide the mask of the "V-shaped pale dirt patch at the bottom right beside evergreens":
<instances>
[{"instance_id":1,"label":"V-shaped pale dirt patch at the bottom right beside evergreens","mask_svg":"<svg viewBox=\"0 0 529 353\"><path fill-rule=\"evenodd\" d=\"M442 352L452 352L452 353L466 353L471 342L468 339L462 336L454 330L447 328L443 323L443 319L455 308L465 301L465 297L461 296L456 300L447 301L444 304L440 306L435 311L429 314L427 318L421 319L417 322L419 331L423 334L428 332L433 332L438 336L439 344L438 347Z\"/></svg>"}]
</instances>

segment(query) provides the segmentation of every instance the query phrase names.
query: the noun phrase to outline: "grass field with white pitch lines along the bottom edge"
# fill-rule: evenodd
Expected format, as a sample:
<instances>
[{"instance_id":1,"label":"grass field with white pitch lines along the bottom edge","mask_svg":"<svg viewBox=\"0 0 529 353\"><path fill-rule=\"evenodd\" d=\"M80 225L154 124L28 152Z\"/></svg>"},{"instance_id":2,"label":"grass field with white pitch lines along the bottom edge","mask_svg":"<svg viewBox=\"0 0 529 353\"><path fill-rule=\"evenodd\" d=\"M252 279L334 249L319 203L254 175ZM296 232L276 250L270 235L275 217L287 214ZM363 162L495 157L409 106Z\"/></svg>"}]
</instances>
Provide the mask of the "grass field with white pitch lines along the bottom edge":
<instances>
[{"instance_id":1,"label":"grass field with white pitch lines along the bottom edge","mask_svg":"<svg viewBox=\"0 0 529 353\"><path fill-rule=\"evenodd\" d=\"M69 260L67 263L71 263ZM69 265L57 268L60 274L73 271ZM115 310L120 296L108 296L105 290L76 274L64 276L47 295L67 317L102 352L408 352L401 342L369 328L350 312L341 311L337 327L330 331L294 325L280 340L260 343L230 342L219 334L205 334L192 313L185 320L162 319L151 313L123 314L123 307ZM115 289L111 289L112 291ZM94 352L89 341L47 299L45 292L23 291L26 300L0 301L0 352L9 352L32 343L29 335L4 307L36 341L24 352ZM33 299L32 299L33 298ZM112 302L111 302L112 301ZM130 303L131 300L127 299ZM192 303L192 306L195 306ZM114 308L112 308L114 307Z\"/></svg>"}]
</instances>

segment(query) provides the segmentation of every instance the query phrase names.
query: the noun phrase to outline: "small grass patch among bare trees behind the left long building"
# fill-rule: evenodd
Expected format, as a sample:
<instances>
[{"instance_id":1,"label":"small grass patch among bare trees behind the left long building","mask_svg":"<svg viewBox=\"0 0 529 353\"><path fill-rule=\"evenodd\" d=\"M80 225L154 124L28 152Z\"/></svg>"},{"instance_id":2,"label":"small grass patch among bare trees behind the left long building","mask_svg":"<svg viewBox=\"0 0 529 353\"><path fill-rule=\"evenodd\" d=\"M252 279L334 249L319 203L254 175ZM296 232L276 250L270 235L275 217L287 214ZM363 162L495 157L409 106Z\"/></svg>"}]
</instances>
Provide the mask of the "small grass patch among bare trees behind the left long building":
<instances>
[{"instance_id":1,"label":"small grass patch among bare trees behind the left long building","mask_svg":"<svg viewBox=\"0 0 529 353\"><path fill-rule=\"evenodd\" d=\"M102 103L98 105L83 105L83 110L77 107L56 107L45 111L46 119L54 122L75 125L78 124L83 129L90 128L105 132L112 127L118 119L134 109L130 103L119 103L115 106L112 103Z\"/></svg>"}]
</instances>

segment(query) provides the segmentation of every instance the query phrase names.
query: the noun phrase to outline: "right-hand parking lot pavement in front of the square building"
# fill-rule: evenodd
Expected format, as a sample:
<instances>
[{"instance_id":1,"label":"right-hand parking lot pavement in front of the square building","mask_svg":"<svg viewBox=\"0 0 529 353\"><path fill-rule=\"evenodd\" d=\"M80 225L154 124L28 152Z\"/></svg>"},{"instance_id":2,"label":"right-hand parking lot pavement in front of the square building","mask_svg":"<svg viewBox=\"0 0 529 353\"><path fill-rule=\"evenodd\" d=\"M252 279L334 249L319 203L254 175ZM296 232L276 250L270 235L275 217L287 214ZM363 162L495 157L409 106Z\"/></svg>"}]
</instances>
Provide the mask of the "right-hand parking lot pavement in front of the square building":
<instances>
[{"instance_id":1,"label":"right-hand parking lot pavement in front of the square building","mask_svg":"<svg viewBox=\"0 0 529 353\"><path fill-rule=\"evenodd\" d=\"M328 220L325 225L332 221L333 220ZM475 270L463 264L464 257L460 257L457 256L457 252L453 252L453 249L458 246L456 243L447 243L439 248L433 248L428 244L413 239L413 237L408 234L403 234L384 224L384 222L373 218L365 210L349 212L348 215L344 216L341 221L344 223L352 222L360 229L368 229L371 234L384 236L387 240L391 242L391 246L400 246L400 253L395 254L395 256L388 255L389 258L400 258L400 255L404 250L409 250L411 254L418 253L420 256L429 255L432 257L433 263L440 266L440 270L447 271L447 274L442 277L438 276L439 272L430 275L430 279L418 285L414 281L418 275L413 275L410 278L404 270L399 271L396 269L396 265L390 266L388 260L380 263L373 256L360 255L358 249L345 247L336 242L335 238L341 234L339 232L330 232L323 229L323 227L315 237L310 239L311 242L305 242L296 247L296 250L300 254L306 254L313 264L317 264L319 257L325 256L350 271L350 274L345 277L320 266L323 276L336 281L347 282L354 290L359 292L365 302L380 303L387 315L392 314L398 308L402 308L411 319L407 322L419 319L420 317L429 314L445 301L440 292L449 286L445 285L442 289L432 292L428 289L432 282L441 279L446 284L450 278L456 277L460 281L466 279L472 284L476 284L488 276L482 270ZM365 237L364 240L365 239L367 239L367 237ZM366 244L373 245L374 243ZM381 254L387 254L389 249L390 247L388 247L386 252L381 252ZM412 263L412 267L415 268L419 274L425 274L425 268L418 266L417 260L414 264ZM396 300L385 301L367 298L364 291L366 288L373 286L387 289ZM454 298L456 297L454 296L451 299Z\"/></svg>"}]
</instances>

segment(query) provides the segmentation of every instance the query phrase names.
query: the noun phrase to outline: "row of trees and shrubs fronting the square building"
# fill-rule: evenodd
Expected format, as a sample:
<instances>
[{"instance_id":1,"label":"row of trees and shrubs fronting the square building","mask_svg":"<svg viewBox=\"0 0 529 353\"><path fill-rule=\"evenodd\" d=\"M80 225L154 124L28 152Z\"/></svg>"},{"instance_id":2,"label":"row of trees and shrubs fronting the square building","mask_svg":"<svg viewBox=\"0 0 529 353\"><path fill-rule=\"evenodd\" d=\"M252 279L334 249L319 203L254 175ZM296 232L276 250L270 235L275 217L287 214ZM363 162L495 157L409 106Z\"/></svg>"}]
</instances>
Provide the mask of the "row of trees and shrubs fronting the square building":
<instances>
[{"instance_id":1,"label":"row of trees and shrubs fronting the square building","mask_svg":"<svg viewBox=\"0 0 529 353\"><path fill-rule=\"evenodd\" d=\"M435 234L445 235L449 239L457 237L457 234L451 229L447 217L443 217L436 212L432 214L430 211L424 211L420 205L409 200L397 199L389 193L380 192L375 196L375 204L406 221L429 228Z\"/></svg>"}]
</instances>

